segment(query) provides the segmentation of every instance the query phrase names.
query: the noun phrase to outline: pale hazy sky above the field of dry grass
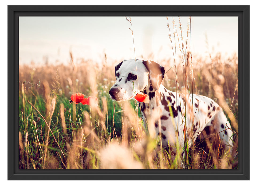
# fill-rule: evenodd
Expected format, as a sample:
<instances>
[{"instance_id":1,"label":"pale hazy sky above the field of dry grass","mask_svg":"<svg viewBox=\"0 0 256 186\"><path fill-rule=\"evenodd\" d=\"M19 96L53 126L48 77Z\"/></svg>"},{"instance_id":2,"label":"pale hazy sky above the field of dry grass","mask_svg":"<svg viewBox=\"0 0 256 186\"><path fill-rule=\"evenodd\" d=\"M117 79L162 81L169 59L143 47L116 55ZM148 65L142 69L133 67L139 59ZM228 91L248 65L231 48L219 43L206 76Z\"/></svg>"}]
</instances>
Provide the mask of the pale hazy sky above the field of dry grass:
<instances>
[{"instance_id":1,"label":"pale hazy sky above the field of dry grass","mask_svg":"<svg viewBox=\"0 0 256 186\"><path fill-rule=\"evenodd\" d=\"M174 19L181 41L179 20ZM188 17L180 19L185 44ZM131 20L136 58L146 60L151 53L155 61L173 58L166 17L131 17ZM168 20L174 41L172 17ZM46 57L49 63L58 60L67 64L70 50L75 61L84 58L101 63L105 61L104 53L108 62L135 58L129 28L131 24L125 17L19 17L19 64L33 60L43 65ZM238 17L191 17L189 50L190 36L193 56L205 57L207 52L214 56L221 52L224 58L229 57L238 53ZM176 43L180 55L177 37Z\"/></svg>"}]
</instances>

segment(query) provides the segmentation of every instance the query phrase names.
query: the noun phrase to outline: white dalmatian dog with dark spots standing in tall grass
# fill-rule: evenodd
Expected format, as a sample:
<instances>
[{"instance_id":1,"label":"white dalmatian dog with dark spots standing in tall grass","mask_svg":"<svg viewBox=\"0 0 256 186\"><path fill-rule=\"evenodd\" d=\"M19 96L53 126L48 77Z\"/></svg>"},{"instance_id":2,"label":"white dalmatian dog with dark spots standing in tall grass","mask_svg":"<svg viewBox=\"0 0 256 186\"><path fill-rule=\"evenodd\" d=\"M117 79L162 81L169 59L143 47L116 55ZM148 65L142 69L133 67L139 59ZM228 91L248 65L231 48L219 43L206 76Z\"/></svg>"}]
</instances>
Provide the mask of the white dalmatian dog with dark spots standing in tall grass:
<instances>
[{"instance_id":1,"label":"white dalmatian dog with dark spots standing in tall grass","mask_svg":"<svg viewBox=\"0 0 256 186\"><path fill-rule=\"evenodd\" d=\"M117 81L109 90L111 99L123 101L138 92L147 94L149 103L141 103L144 126L151 118L163 147L174 147L178 142L184 148L184 133L191 145L203 131L209 135L211 128L219 134L225 149L231 151L233 132L222 108L202 95L167 90L162 84L164 73L164 67L154 61L124 60L115 67Z\"/></svg>"}]
</instances>

